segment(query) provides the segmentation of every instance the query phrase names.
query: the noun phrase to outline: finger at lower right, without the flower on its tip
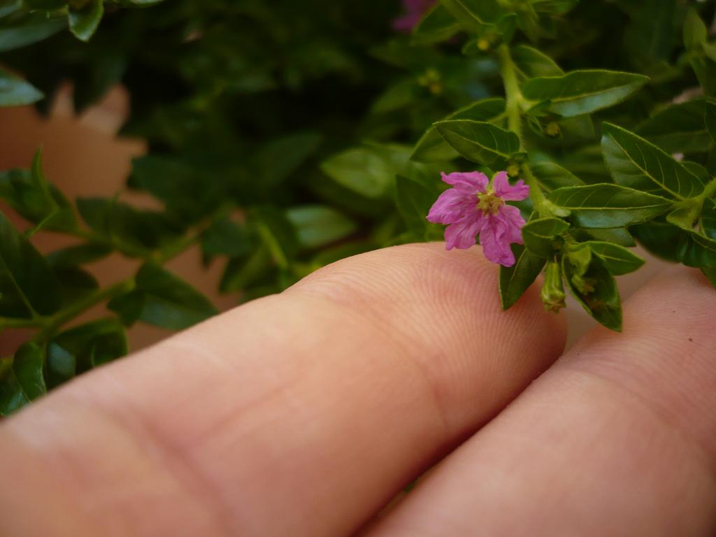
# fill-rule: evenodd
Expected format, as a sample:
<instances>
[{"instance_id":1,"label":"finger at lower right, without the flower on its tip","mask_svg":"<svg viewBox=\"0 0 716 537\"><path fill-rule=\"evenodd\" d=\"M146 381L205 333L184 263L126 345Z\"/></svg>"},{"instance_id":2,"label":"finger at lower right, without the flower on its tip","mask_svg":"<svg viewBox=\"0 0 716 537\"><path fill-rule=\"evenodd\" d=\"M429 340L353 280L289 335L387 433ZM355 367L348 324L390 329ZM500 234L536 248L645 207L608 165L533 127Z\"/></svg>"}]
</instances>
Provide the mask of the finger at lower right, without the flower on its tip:
<instances>
[{"instance_id":1,"label":"finger at lower right, without the flower on its tip","mask_svg":"<svg viewBox=\"0 0 716 537\"><path fill-rule=\"evenodd\" d=\"M714 311L658 276L364 537L716 535Z\"/></svg>"}]
</instances>

